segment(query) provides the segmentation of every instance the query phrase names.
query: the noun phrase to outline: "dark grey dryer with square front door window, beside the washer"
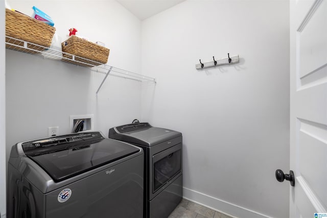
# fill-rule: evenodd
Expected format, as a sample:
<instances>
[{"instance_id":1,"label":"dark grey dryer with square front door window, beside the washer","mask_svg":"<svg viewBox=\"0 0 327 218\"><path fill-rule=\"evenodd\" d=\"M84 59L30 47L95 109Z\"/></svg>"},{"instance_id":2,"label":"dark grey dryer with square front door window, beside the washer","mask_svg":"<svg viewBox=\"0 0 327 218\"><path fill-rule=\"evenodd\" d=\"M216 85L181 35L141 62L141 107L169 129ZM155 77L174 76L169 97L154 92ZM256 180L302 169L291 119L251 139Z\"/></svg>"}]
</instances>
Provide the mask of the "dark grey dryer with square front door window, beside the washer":
<instances>
[{"instance_id":1,"label":"dark grey dryer with square front door window, beside the washer","mask_svg":"<svg viewBox=\"0 0 327 218\"><path fill-rule=\"evenodd\" d=\"M167 218L182 199L182 134L135 123L109 129L109 138L144 150L144 217Z\"/></svg>"}]
</instances>

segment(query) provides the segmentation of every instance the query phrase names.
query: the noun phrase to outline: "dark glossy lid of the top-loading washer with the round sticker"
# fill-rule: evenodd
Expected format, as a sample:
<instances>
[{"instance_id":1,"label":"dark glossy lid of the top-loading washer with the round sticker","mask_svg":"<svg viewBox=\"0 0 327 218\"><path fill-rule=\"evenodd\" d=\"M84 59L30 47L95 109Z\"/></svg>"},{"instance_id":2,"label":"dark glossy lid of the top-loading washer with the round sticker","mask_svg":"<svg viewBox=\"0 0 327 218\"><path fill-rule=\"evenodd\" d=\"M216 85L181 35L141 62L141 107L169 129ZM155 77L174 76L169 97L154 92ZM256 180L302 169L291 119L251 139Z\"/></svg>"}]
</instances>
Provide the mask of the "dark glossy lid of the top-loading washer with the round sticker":
<instances>
[{"instance_id":1,"label":"dark glossy lid of the top-loading washer with the round sticker","mask_svg":"<svg viewBox=\"0 0 327 218\"><path fill-rule=\"evenodd\" d=\"M66 142L65 145L59 150L53 146L46 152L30 153L27 156L55 182L59 182L140 151L127 143L103 137L91 141Z\"/></svg>"}]
</instances>

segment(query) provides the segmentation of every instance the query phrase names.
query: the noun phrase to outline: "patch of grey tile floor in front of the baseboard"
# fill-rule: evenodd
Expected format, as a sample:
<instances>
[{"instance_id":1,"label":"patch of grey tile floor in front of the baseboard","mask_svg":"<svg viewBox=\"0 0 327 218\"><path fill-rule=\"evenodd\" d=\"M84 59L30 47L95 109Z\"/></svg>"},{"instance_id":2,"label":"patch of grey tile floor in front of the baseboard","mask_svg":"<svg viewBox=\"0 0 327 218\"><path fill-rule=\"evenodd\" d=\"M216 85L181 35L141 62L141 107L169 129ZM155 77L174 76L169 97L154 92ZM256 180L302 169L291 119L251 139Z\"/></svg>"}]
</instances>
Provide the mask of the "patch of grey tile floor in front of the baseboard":
<instances>
[{"instance_id":1,"label":"patch of grey tile floor in front of the baseboard","mask_svg":"<svg viewBox=\"0 0 327 218\"><path fill-rule=\"evenodd\" d=\"M168 218L231 218L225 214L182 199Z\"/></svg>"}]
</instances>

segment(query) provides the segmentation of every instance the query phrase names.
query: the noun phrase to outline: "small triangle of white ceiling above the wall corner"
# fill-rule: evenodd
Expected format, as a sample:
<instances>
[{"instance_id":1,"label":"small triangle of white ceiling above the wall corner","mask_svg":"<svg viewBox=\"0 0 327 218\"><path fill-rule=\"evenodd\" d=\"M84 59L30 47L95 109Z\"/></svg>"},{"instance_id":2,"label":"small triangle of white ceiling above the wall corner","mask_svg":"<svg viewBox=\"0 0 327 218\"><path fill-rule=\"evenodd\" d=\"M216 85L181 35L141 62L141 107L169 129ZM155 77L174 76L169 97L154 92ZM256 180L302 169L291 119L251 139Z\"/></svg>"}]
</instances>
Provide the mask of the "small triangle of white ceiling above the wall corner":
<instances>
[{"instance_id":1,"label":"small triangle of white ceiling above the wall corner","mask_svg":"<svg viewBox=\"0 0 327 218\"><path fill-rule=\"evenodd\" d=\"M117 0L140 20L165 11L185 0Z\"/></svg>"}]
</instances>

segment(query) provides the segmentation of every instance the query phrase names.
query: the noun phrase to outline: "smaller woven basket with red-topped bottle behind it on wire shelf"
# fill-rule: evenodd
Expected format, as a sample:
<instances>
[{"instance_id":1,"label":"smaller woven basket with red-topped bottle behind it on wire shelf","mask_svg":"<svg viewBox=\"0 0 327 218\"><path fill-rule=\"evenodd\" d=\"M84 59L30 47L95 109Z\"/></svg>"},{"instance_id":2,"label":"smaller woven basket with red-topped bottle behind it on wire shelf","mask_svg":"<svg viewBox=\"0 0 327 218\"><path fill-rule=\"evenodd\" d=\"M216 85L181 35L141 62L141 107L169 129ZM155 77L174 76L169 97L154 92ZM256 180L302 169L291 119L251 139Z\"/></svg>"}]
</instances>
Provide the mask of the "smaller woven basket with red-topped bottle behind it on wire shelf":
<instances>
[{"instance_id":1,"label":"smaller woven basket with red-topped bottle behind it on wire shelf","mask_svg":"<svg viewBox=\"0 0 327 218\"><path fill-rule=\"evenodd\" d=\"M109 49L77 36L69 37L69 39L62 42L61 45L63 52L78 56L73 57L72 55L63 54L62 57L68 58L69 60L62 59L62 61L87 67L105 64L108 61ZM75 58L75 61L73 58ZM78 61L87 64L83 64Z\"/></svg>"}]
</instances>

